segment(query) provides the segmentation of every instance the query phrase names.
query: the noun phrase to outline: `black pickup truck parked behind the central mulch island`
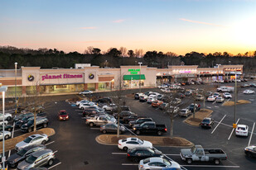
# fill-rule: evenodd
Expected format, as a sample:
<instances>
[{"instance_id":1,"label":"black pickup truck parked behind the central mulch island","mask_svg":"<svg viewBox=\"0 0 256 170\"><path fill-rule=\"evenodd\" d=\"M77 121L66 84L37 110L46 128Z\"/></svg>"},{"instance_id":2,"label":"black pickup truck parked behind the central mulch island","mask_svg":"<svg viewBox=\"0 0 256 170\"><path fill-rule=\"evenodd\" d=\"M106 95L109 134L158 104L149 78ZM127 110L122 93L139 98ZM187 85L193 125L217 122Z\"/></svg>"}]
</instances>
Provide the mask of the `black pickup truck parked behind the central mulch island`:
<instances>
[{"instance_id":1,"label":"black pickup truck parked behind the central mulch island","mask_svg":"<svg viewBox=\"0 0 256 170\"><path fill-rule=\"evenodd\" d=\"M146 121L146 122L142 123L141 125L134 125L133 132L136 135L140 135L140 134L162 135L162 133L167 132L167 126L166 125L157 125L153 121Z\"/></svg>"}]
</instances>

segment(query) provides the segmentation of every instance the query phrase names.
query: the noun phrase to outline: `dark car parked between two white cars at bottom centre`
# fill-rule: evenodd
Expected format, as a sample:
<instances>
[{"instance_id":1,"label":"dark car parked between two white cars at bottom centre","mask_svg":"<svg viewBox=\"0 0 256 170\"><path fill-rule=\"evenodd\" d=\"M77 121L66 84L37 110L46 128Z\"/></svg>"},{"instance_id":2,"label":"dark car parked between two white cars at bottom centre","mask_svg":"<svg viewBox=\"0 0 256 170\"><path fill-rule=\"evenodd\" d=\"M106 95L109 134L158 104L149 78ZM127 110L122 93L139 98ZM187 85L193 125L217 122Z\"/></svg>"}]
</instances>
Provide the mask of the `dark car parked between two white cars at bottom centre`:
<instances>
[{"instance_id":1,"label":"dark car parked between two white cars at bottom centre","mask_svg":"<svg viewBox=\"0 0 256 170\"><path fill-rule=\"evenodd\" d=\"M133 162L138 162L144 158L160 157L162 152L157 149L149 149L138 147L135 149L128 149L127 158Z\"/></svg>"}]
</instances>

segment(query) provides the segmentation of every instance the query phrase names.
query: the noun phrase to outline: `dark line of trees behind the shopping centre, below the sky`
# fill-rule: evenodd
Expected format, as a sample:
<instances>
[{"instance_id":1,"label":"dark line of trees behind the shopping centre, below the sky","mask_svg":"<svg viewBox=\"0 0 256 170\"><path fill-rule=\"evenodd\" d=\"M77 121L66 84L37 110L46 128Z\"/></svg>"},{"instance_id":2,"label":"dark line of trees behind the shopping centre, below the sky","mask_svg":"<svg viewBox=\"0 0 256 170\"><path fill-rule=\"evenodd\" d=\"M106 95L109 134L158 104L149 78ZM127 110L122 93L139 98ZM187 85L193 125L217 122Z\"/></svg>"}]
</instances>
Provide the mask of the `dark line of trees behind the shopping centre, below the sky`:
<instances>
[{"instance_id":1,"label":"dark line of trees behind the shopping centre, below the sky","mask_svg":"<svg viewBox=\"0 0 256 170\"><path fill-rule=\"evenodd\" d=\"M204 54L192 51L185 55L172 52L163 53L143 50L127 50L125 47L109 48L101 51L89 46L84 54L79 52L65 53L52 49L19 49L12 46L0 46L0 68L14 68L19 66L40 66L41 68L72 68L75 64L92 64L99 67L118 68L120 65L138 65L142 62L148 67L167 68L168 65L199 65L201 68L213 67L215 64L244 64L245 72L253 72L256 68L256 51L245 54L229 54L228 52Z\"/></svg>"}]
</instances>

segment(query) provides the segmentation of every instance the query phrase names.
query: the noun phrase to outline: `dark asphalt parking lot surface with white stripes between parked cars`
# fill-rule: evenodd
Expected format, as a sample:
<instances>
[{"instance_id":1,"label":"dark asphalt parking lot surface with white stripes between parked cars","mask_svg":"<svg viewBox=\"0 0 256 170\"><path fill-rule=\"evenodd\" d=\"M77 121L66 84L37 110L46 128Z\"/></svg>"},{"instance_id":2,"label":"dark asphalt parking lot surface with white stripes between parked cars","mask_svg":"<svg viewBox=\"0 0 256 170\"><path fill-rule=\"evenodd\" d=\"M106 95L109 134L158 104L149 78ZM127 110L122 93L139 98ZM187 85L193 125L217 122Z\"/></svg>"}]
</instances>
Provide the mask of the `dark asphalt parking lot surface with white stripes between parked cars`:
<instances>
[{"instance_id":1,"label":"dark asphalt parking lot surface with white stripes between parked cars","mask_svg":"<svg viewBox=\"0 0 256 170\"><path fill-rule=\"evenodd\" d=\"M254 89L254 87L250 88ZM157 91L157 89L155 90ZM243 91L243 89L241 90ZM234 123L234 106L222 106L221 103L205 102L205 108L213 110L211 117L215 120L215 125L211 129L187 125L183 122L186 118L180 116L176 116L174 121L175 136L188 139L194 144L200 144L205 149L223 149L228 155L226 161L222 161L220 165L207 162L186 164L180 158L181 148L164 146L155 146L155 148L162 151L167 158L180 163L183 169L255 169L256 159L247 158L244 154L244 148L248 145L256 144L256 131L254 130L256 122L256 117L254 116L256 96L255 94L244 95L241 90L238 92L238 99L248 100L251 103L237 105L236 120L238 124L249 125L248 137L234 135L234 129L232 128ZM97 96L97 94L94 94L94 96ZM70 95L69 97L73 96ZM230 101L234 101L234 97ZM182 99L182 102L189 103L190 99L185 97ZM170 119L163 111L153 108L147 102L134 100L133 97L127 97L126 105L130 106L131 111L139 116L152 117L157 123L167 125L167 133L163 135L170 135ZM200 102L200 105L203 106L203 103ZM58 120L57 112L60 110L69 112L70 120ZM126 153L119 150L118 146L98 144L95 138L102 134L99 126L89 127L89 125L85 125L81 112L77 106L72 106L71 103L65 101L50 102L50 105L46 108L47 118L50 122L49 127L56 130L56 135L51 136L50 141L47 143L47 148L55 152L56 160L48 168L138 169L138 163L128 161ZM22 135L22 132L14 130L14 137L18 135ZM127 131L124 135L134 134Z\"/></svg>"}]
</instances>

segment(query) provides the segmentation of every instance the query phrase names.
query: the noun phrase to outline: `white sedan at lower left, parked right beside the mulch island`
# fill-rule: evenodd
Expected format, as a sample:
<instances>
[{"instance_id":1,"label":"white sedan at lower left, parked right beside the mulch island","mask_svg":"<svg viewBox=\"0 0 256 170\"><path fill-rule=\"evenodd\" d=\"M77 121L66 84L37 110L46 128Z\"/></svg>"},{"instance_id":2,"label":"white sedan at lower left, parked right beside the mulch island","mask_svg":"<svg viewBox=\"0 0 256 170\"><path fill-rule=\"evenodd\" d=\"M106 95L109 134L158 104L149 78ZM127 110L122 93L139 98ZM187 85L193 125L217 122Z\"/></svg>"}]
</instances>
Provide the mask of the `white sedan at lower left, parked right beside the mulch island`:
<instances>
[{"instance_id":1,"label":"white sedan at lower left, parked right beside the mulch island","mask_svg":"<svg viewBox=\"0 0 256 170\"><path fill-rule=\"evenodd\" d=\"M30 135L26 139L24 139L22 142L17 143L15 146L15 149L19 151L33 144L46 144L47 141L48 141L48 136L46 134Z\"/></svg>"}]
</instances>

